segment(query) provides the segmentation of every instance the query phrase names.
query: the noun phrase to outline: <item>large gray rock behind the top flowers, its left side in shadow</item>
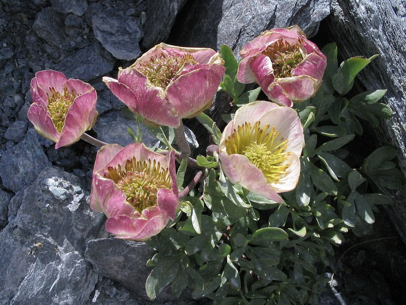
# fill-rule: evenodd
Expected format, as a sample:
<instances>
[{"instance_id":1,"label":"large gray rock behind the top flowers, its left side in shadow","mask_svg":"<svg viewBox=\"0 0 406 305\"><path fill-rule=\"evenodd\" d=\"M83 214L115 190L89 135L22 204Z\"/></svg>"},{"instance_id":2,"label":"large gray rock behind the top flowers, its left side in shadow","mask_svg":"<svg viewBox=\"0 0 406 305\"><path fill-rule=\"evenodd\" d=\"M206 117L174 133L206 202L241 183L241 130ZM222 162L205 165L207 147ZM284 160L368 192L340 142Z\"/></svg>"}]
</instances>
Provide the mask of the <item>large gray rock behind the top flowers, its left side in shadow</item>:
<instances>
[{"instance_id":1,"label":"large gray rock behind the top flowers, its left side in shadow","mask_svg":"<svg viewBox=\"0 0 406 305\"><path fill-rule=\"evenodd\" d=\"M265 29L298 24L311 37L330 13L331 0L224 0L188 2L169 43L219 50L226 44L238 52Z\"/></svg>"}]
</instances>

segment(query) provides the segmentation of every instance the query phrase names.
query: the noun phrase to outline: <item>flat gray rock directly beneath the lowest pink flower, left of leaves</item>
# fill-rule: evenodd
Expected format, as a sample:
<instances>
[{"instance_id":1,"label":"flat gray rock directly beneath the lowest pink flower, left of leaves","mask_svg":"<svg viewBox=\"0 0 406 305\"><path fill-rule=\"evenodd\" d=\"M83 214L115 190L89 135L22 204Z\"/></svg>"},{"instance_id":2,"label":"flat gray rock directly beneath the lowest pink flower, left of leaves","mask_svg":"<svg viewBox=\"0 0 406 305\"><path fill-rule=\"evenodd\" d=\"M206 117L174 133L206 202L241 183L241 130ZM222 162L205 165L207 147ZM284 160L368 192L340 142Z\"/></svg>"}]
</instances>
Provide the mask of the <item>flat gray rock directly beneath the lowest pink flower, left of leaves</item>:
<instances>
[{"instance_id":1,"label":"flat gray rock directly beneath the lowest pink flower, left of leaves","mask_svg":"<svg viewBox=\"0 0 406 305\"><path fill-rule=\"evenodd\" d=\"M117 238L89 240L85 252L86 259L100 276L118 281L145 299L148 296L144 283L152 269L146 263L153 255L154 251L145 242Z\"/></svg>"}]
</instances>

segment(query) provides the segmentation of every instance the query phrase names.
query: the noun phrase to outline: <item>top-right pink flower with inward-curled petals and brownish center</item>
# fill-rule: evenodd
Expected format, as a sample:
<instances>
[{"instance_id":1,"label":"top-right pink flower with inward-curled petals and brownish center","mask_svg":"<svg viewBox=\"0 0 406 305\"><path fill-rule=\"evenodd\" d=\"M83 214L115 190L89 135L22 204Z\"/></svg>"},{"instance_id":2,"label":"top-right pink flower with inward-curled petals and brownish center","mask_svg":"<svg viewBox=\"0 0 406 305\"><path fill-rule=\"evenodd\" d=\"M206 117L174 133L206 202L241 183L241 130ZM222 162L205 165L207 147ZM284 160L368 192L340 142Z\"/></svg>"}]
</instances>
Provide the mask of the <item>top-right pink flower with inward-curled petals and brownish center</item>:
<instances>
[{"instance_id":1,"label":"top-right pink flower with inward-curled petals and brownish center","mask_svg":"<svg viewBox=\"0 0 406 305\"><path fill-rule=\"evenodd\" d=\"M240 55L237 79L257 82L271 101L288 107L317 92L326 68L326 56L297 25L263 32Z\"/></svg>"}]
</instances>

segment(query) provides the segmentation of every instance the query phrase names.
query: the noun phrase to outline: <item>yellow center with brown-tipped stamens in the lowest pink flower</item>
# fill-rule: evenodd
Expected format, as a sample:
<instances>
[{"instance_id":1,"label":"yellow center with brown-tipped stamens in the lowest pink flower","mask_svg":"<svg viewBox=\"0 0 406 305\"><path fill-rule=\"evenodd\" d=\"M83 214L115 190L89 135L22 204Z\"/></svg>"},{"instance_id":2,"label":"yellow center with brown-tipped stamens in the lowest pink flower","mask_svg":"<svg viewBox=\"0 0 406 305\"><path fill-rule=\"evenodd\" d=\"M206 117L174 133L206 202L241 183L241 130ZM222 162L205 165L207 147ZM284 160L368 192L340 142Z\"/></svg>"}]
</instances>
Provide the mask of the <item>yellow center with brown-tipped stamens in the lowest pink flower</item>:
<instances>
[{"instance_id":1,"label":"yellow center with brown-tipped stamens in the lowest pink flower","mask_svg":"<svg viewBox=\"0 0 406 305\"><path fill-rule=\"evenodd\" d=\"M159 189L172 187L172 179L168 169L162 169L159 162L137 161L135 157L127 160L124 168L109 166L105 177L111 179L123 191L127 202L137 211L142 211L157 204L157 193Z\"/></svg>"}]
</instances>

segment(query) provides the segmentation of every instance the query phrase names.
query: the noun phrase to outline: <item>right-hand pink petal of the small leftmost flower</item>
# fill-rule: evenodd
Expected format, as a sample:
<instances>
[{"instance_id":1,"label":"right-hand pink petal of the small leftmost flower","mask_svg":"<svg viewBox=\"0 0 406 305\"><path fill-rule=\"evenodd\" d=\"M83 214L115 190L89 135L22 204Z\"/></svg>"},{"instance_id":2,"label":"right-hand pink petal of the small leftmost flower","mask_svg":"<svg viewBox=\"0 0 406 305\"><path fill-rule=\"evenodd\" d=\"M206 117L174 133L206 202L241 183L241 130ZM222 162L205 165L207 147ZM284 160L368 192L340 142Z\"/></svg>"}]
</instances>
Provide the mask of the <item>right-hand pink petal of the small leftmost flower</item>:
<instances>
[{"instance_id":1,"label":"right-hand pink petal of the small leftmost flower","mask_svg":"<svg viewBox=\"0 0 406 305\"><path fill-rule=\"evenodd\" d=\"M55 148L78 141L86 130L92 128L96 115L96 101L97 94L93 88L74 100L67 111L65 124Z\"/></svg>"}]
</instances>

